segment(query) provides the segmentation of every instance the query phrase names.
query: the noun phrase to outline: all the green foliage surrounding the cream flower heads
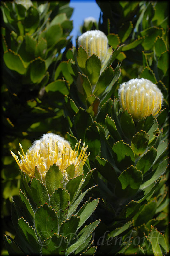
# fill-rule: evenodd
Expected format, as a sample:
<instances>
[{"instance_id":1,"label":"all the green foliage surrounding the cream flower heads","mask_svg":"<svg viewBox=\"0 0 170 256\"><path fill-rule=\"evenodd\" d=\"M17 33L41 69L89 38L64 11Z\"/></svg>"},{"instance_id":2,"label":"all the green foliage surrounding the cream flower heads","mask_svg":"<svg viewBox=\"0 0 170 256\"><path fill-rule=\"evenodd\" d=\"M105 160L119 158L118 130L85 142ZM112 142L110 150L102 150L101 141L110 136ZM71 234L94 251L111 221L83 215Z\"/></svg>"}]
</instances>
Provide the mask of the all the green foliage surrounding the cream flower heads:
<instances>
[{"instance_id":1,"label":"all the green foliage surrounding the cream flower heads","mask_svg":"<svg viewBox=\"0 0 170 256\"><path fill-rule=\"evenodd\" d=\"M102 11L97 26L106 34L110 46L104 65L98 56L88 56L81 46L68 49L71 45L67 36L72 29L68 5L47 3L37 18L39 4L29 11L18 5L15 17L14 10L11 14L8 12L12 5L8 4L6 8L2 4L3 18L8 18L4 18L6 25L2 28L3 123L6 132L21 137L28 148L30 140L39 134L51 130L64 134L68 131L67 139L72 145L81 138L91 151L89 161L84 165L84 176L73 178L74 166L69 167L67 172L71 179L66 187L62 187L61 175L54 166L50 170L54 169L56 174L48 171L46 187L37 171L31 185L21 173L18 188L22 191L19 199L13 196L15 204L12 205L16 236L14 240L5 236L9 253L32 253L26 232L21 229L29 230L30 240L35 244L39 239L42 254L93 255L96 246L96 253L111 255L151 253L156 256L169 252L168 4L164 1L97 1L97 4ZM50 8L51 12L48 12ZM29 15L33 15L33 23L28 23ZM16 17L18 20L14 22ZM82 31L93 29L91 25L82 27ZM62 58L60 50L66 45ZM132 78L149 79L161 90L163 106L156 116L151 114L134 122L131 114L121 108L119 84ZM15 115L10 108L14 103L17 105ZM26 133L22 132L28 133L30 140L25 140ZM5 148L17 150L18 139L13 139L12 143L10 139L5 142L8 145ZM4 158L4 164L9 163L11 173L13 166L8 157ZM91 168L96 171L89 171ZM17 176L15 169L14 172L15 175L10 174L10 177ZM3 176L6 179L4 171ZM88 189L88 182L91 188L98 186ZM11 194L15 193L12 191ZM87 201L78 209L84 197ZM95 199L98 197L99 203ZM97 204L94 216L90 217L92 223L82 228ZM49 212L50 218L58 216L58 226L46 230L54 229L51 236L50 233L49 236L38 236L34 230L36 212L40 214L43 210ZM41 216L44 223L45 216ZM98 227L99 220L96 219L102 220ZM38 221L36 223L39 230ZM18 234L21 233L20 241ZM103 243L99 243L103 236ZM37 246L35 250L39 248Z\"/></svg>"}]
</instances>

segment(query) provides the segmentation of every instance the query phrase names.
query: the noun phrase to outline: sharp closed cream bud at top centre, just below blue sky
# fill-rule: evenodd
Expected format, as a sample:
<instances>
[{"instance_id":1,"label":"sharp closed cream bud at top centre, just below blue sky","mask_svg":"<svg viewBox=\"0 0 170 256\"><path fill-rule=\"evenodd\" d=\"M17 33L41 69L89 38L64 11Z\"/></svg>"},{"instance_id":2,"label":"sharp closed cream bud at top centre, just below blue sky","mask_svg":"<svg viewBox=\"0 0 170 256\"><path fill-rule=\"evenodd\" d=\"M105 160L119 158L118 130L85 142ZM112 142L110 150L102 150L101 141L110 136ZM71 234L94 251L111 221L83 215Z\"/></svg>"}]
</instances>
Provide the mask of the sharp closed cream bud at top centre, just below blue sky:
<instances>
[{"instance_id":1,"label":"sharp closed cream bud at top centre, just below blue sky","mask_svg":"<svg viewBox=\"0 0 170 256\"><path fill-rule=\"evenodd\" d=\"M95 54L103 64L108 52L107 36L100 30L89 30L78 37L78 46L85 48L88 56Z\"/></svg>"}]
</instances>

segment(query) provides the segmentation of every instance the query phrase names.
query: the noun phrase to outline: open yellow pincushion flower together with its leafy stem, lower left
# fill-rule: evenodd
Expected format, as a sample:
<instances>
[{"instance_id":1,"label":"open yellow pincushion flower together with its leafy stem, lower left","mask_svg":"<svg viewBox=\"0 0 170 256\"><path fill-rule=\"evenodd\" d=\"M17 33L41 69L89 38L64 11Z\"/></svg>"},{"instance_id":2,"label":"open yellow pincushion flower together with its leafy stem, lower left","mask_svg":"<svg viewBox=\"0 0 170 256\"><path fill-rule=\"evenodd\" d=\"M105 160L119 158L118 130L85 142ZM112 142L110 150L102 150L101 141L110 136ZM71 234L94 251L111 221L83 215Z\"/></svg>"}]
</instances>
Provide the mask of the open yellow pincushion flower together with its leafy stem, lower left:
<instances>
[{"instance_id":1,"label":"open yellow pincushion flower together with its leafy stem, lower left","mask_svg":"<svg viewBox=\"0 0 170 256\"><path fill-rule=\"evenodd\" d=\"M92 232L100 220L83 228L82 225L95 210L99 198L81 204L93 188L82 192L94 169L84 170L89 154L85 143L79 153L80 143L81 140L73 150L63 137L48 133L35 140L26 154L20 144L20 161L11 152L20 168L22 186L19 198L12 198L15 238L5 235L10 254L95 252Z\"/></svg>"}]
</instances>

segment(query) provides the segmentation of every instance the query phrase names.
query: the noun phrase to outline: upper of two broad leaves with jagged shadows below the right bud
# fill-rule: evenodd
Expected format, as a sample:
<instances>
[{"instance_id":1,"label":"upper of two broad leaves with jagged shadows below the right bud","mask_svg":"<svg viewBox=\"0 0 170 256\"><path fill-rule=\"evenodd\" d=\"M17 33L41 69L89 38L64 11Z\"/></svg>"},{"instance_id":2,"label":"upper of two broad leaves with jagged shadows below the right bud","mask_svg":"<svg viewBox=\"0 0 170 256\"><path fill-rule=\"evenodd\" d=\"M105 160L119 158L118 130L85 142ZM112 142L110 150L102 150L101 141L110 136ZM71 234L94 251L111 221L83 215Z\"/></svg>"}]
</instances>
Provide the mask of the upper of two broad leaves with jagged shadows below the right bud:
<instances>
[{"instance_id":1,"label":"upper of two broad leaves with jagged shadows below the right bud","mask_svg":"<svg viewBox=\"0 0 170 256\"><path fill-rule=\"evenodd\" d=\"M116 166L121 171L124 171L127 167L134 165L135 163L135 154L132 148L124 143L123 140L120 140L113 145L112 156Z\"/></svg>"}]
</instances>

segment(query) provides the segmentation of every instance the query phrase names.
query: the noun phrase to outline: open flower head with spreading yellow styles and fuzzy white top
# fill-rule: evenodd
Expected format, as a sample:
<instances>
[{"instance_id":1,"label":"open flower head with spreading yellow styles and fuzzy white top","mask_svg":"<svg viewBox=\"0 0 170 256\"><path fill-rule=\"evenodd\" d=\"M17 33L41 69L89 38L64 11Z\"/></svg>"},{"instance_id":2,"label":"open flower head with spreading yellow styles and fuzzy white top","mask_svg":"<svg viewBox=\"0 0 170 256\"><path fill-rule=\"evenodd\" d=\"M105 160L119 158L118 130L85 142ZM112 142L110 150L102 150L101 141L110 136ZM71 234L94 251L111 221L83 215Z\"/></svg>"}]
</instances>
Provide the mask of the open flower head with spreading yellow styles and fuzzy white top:
<instances>
[{"instance_id":1,"label":"open flower head with spreading yellow styles and fuzzy white top","mask_svg":"<svg viewBox=\"0 0 170 256\"><path fill-rule=\"evenodd\" d=\"M24 154L22 146L19 144L23 153L23 155L21 155L18 151L18 155L21 158L20 161L18 156L16 156L12 151L11 154L15 158L19 168L30 177L34 176L35 166L37 166L40 174L44 178L50 165L56 164L61 172L63 172L65 178L68 180L65 169L71 164L74 164L74 177L78 176L80 174L80 164L84 165L87 157L90 155L90 152L87 155L86 150L88 146L85 147L84 143L80 155L78 156L80 143L81 139L79 143L76 143L74 150L72 150L70 143L61 136L53 133L47 133L44 134L40 140L35 140L33 145L27 150L26 154Z\"/></svg>"}]
</instances>

